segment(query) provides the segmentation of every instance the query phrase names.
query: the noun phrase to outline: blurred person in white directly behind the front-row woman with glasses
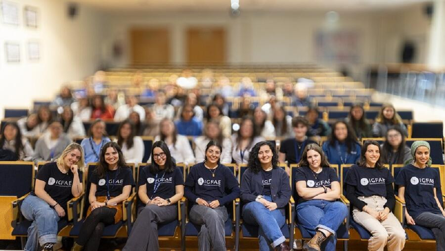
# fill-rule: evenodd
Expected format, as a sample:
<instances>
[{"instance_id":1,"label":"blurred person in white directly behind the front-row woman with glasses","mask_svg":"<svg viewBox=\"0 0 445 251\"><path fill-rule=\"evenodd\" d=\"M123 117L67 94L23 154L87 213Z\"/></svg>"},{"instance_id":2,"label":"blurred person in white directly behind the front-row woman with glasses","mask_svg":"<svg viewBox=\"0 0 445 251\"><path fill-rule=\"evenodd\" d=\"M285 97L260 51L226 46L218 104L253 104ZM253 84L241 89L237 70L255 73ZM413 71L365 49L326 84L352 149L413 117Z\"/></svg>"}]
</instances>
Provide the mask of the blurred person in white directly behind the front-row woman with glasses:
<instances>
[{"instance_id":1,"label":"blurred person in white directly behind the front-row woman with glasses","mask_svg":"<svg viewBox=\"0 0 445 251\"><path fill-rule=\"evenodd\" d=\"M161 132L155 137L154 142L164 141L176 163L184 163L186 165L195 163L195 156L187 137L178 134L175 123L171 119L164 118L161 120L159 128ZM151 163L151 157L147 163Z\"/></svg>"}]
</instances>

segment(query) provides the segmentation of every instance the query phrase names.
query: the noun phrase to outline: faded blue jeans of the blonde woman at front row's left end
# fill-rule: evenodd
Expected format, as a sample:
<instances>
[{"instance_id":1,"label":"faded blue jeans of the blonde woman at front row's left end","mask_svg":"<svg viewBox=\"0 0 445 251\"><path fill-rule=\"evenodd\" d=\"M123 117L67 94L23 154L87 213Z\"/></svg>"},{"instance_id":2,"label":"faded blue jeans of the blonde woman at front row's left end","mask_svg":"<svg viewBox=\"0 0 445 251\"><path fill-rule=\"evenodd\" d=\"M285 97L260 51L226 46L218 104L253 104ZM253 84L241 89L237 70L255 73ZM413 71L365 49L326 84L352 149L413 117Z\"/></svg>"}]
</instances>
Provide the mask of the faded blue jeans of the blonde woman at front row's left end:
<instances>
[{"instance_id":1,"label":"faded blue jeans of the blonde woman at front row's left end","mask_svg":"<svg viewBox=\"0 0 445 251\"><path fill-rule=\"evenodd\" d=\"M37 250L37 241L40 245L57 242L57 212L49 207L48 203L37 196L29 195L23 200L20 207L23 216L33 221L28 228L28 241L25 251Z\"/></svg>"}]
</instances>

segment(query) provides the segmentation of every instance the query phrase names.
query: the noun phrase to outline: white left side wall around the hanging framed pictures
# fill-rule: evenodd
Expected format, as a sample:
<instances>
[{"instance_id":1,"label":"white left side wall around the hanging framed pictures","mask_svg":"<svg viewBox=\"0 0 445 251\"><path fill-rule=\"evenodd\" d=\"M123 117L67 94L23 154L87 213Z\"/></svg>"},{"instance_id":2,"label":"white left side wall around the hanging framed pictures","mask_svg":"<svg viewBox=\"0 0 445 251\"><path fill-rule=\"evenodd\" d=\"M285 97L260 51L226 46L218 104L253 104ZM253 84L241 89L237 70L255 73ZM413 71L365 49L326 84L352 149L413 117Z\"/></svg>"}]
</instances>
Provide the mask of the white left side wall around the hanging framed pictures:
<instances>
[{"instance_id":1,"label":"white left side wall around the hanging framed pictures","mask_svg":"<svg viewBox=\"0 0 445 251\"><path fill-rule=\"evenodd\" d=\"M0 22L0 118L4 107L31 108L33 100L52 100L60 86L82 80L100 66L104 18L100 11L79 5L75 19L67 17L65 0L14 0L20 24ZM38 29L23 22L25 5L39 8ZM41 59L28 60L27 42L37 40ZM19 63L6 63L4 42L19 42ZM7 90L7 91L5 91Z\"/></svg>"}]
</instances>

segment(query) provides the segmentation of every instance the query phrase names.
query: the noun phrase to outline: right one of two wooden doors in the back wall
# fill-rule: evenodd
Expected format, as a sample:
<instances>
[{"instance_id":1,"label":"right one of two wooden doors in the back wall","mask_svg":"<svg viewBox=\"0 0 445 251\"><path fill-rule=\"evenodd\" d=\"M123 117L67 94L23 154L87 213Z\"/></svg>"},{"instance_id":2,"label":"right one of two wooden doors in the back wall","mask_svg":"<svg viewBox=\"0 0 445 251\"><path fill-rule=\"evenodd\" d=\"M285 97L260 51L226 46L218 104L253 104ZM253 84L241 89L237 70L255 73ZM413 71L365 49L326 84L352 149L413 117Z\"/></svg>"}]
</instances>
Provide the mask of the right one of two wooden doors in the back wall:
<instances>
[{"instance_id":1,"label":"right one of two wooden doors in the back wall","mask_svg":"<svg viewBox=\"0 0 445 251\"><path fill-rule=\"evenodd\" d=\"M189 28L187 61L189 63L225 63L225 30L223 28Z\"/></svg>"}]
</instances>

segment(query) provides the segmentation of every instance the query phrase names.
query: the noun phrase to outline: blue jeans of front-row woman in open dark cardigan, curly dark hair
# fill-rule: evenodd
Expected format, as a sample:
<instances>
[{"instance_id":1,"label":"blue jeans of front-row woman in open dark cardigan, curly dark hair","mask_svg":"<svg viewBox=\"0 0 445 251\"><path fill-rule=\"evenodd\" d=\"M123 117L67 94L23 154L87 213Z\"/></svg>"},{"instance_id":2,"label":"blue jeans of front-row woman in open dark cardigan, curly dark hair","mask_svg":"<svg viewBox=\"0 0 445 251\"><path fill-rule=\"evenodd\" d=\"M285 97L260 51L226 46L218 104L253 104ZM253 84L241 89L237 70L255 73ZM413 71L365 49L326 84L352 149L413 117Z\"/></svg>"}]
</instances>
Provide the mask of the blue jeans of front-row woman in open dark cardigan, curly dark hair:
<instances>
[{"instance_id":1,"label":"blue jeans of front-row woman in open dark cardigan, curly dark hair","mask_svg":"<svg viewBox=\"0 0 445 251\"><path fill-rule=\"evenodd\" d=\"M263 198L267 201L272 201L270 196L263 196ZM286 241L286 238L281 233L281 228L284 226L286 218L279 208L270 211L262 203L252 201L243 208L243 220L250 225L259 226L260 251L271 251Z\"/></svg>"}]
</instances>

